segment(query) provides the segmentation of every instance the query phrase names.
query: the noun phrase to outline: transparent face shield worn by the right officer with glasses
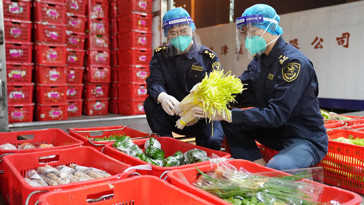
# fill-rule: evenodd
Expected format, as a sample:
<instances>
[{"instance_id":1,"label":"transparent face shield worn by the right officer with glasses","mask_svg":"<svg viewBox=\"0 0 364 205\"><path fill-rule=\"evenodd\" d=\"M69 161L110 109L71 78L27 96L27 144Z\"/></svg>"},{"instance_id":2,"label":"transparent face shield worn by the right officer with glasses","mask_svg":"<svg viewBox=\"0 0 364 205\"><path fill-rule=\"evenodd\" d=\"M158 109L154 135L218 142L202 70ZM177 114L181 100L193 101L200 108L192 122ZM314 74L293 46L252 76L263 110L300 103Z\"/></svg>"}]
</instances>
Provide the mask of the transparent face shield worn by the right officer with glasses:
<instances>
[{"instance_id":1,"label":"transparent face shield worn by the right officer with glasses","mask_svg":"<svg viewBox=\"0 0 364 205\"><path fill-rule=\"evenodd\" d=\"M265 30L256 26L263 24L264 21L270 21ZM265 41L266 30L272 23L278 24L278 21L265 18L263 15L249 15L236 19L236 54L238 61L253 59L255 56L262 55L266 46L279 38L280 35L271 42Z\"/></svg>"}]
</instances>

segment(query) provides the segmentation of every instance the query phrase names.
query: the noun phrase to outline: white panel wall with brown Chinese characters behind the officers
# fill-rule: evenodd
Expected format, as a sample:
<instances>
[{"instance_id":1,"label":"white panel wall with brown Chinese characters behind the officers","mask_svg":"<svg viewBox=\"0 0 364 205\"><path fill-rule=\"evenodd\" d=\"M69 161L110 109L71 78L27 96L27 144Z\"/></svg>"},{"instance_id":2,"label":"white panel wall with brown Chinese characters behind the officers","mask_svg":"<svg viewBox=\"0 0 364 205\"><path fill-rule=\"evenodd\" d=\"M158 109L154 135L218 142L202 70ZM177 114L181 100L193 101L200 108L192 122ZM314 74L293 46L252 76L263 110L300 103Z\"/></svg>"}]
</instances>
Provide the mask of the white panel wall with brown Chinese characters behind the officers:
<instances>
[{"instance_id":1,"label":"white panel wall with brown Chinese characters behind the officers","mask_svg":"<svg viewBox=\"0 0 364 205\"><path fill-rule=\"evenodd\" d=\"M286 42L298 39L298 48L314 64L319 98L364 100L364 1L280 15ZM204 46L213 48L222 68L240 76L250 60L237 62L235 23L198 29ZM348 48L337 37L349 33ZM322 49L311 45L322 38ZM227 46L228 53L221 54Z\"/></svg>"}]
</instances>

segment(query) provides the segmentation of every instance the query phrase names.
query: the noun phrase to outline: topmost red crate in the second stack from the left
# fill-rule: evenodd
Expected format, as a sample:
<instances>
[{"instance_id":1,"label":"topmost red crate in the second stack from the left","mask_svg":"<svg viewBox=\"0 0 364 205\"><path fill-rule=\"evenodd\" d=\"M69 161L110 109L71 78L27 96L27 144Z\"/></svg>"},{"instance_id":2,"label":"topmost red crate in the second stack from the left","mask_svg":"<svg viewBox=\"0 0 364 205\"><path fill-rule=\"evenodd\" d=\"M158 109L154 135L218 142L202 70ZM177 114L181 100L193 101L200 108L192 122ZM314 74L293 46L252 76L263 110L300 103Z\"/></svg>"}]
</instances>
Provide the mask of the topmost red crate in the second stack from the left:
<instances>
[{"instance_id":1,"label":"topmost red crate in the second stack from the left","mask_svg":"<svg viewBox=\"0 0 364 205\"><path fill-rule=\"evenodd\" d=\"M66 24L66 4L54 1L33 1L34 21Z\"/></svg>"}]
</instances>

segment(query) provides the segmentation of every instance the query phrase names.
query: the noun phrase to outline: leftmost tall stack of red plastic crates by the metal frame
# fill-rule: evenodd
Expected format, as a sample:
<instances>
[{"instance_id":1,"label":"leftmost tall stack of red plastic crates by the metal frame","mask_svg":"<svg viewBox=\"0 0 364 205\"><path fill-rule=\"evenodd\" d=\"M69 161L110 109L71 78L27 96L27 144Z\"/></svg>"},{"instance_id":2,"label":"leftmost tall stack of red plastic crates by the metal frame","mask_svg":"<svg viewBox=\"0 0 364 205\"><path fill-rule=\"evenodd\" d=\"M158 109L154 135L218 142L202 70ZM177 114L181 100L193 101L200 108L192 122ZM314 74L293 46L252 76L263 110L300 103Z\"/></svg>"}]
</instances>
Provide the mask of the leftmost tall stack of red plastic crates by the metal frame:
<instances>
[{"instance_id":1,"label":"leftmost tall stack of red plastic crates by the metal frame","mask_svg":"<svg viewBox=\"0 0 364 205\"><path fill-rule=\"evenodd\" d=\"M3 0L9 123L33 121L32 25L28 0Z\"/></svg>"}]
</instances>

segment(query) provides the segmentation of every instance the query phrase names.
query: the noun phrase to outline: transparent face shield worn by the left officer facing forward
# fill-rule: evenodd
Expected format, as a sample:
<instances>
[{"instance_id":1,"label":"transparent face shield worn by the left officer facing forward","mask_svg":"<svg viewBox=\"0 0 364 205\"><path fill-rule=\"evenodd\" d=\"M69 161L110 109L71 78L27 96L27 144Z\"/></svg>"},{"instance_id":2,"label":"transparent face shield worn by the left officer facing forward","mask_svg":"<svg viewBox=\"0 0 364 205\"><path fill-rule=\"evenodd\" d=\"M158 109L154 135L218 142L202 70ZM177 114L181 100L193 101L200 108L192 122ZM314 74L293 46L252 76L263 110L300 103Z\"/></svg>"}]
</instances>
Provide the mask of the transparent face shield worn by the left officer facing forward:
<instances>
[{"instance_id":1,"label":"transparent face shield worn by the left officer facing forward","mask_svg":"<svg viewBox=\"0 0 364 205\"><path fill-rule=\"evenodd\" d=\"M167 56L199 51L201 41L191 17L174 18L163 22L163 33L168 39Z\"/></svg>"}]
</instances>

